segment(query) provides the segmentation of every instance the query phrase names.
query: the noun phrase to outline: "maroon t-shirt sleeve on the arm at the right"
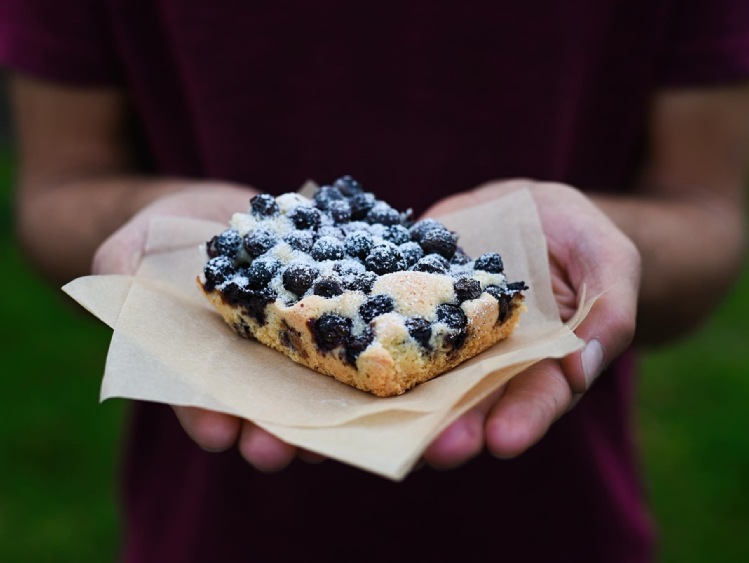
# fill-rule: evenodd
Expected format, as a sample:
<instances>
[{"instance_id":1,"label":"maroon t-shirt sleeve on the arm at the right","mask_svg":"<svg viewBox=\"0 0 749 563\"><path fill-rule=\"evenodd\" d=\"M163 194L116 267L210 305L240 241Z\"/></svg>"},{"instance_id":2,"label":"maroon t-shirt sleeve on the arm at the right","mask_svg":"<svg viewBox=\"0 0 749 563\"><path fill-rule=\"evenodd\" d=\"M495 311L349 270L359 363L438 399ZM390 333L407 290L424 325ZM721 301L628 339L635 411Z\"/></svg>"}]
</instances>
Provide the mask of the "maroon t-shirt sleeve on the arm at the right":
<instances>
[{"instance_id":1,"label":"maroon t-shirt sleeve on the arm at the right","mask_svg":"<svg viewBox=\"0 0 749 563\"><path fill-rule=\"evenodd\" d=\"M749 79L749 0L674 2L659 82L717 85Z\"/></svg>"}]
</instances>

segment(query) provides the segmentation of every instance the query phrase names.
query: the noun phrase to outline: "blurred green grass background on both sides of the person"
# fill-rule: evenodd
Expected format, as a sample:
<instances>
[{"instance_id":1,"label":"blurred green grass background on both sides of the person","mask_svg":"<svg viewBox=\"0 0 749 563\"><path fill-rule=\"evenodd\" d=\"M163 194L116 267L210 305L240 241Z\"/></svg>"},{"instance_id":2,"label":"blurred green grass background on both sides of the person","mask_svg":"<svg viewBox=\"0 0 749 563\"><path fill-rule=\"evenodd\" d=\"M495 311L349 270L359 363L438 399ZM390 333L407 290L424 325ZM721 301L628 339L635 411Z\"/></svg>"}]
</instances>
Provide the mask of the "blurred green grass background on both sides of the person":
<instances>
[{"instance_id":1,"label":"blurred green grass background on both sides of the person","mask_svg":"<svg viewBox=\"0 0 749 563\"><path fill-rule=\"evenodd\" d=\"M0 76L0 110L2 95ZM13 170L0 111L0 561L112 561L125 405L98 403L110 331L24 262ZM749 272L699 333L642 359L637 432L661 563L749 561L747 319Z\"/></svg>"}]
</instances>

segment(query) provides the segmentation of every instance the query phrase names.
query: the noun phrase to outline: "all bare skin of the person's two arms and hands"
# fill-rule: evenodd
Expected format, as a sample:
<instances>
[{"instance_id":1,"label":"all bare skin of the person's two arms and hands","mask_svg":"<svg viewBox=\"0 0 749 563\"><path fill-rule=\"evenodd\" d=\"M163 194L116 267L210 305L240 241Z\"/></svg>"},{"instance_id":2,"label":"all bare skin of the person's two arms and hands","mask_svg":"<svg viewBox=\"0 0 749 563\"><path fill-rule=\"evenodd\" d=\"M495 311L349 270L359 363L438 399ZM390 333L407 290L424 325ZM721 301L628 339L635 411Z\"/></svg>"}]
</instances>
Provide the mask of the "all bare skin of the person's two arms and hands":
<instances>
[{"instance_id":1,"label":"all bare skin of the person's two arms and hands","mask_svg":"<svg viewBox=\"0 0 749 563\"><path fill-rule=\"evenodd\" d=\"M117 90L14 76L12 100L21 158L18 232L28 256L56 283L91 272L133 273L150 217L224 221L256 193L139 176L125 133L128 101ZM435 202L426 213L439 216L529 186L560 314L569 317L583 284L588 295L601 294L576 330L587 343L582 352L515 377L447 428L424 453L428 464L456 467L484 449L503 458L521 454L633 339L647 345L678 338L730 288L745 253L749 86L659 92L650 123L651 152L631 195L586 197L558 184L496 181ZM236 445L262 471L278 471L295 456L321 459L247 420L174 411L201 447Z\"/></svg>"}]
</instances>

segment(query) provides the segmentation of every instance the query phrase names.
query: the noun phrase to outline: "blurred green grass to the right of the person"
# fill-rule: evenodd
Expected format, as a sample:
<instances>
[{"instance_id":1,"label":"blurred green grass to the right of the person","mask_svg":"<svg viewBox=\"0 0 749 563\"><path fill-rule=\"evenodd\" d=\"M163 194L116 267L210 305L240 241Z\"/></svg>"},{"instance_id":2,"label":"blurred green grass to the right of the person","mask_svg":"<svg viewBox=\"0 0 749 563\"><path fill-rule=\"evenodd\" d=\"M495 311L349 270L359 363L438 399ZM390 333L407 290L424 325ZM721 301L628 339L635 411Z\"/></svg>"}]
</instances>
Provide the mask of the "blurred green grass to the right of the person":
<instances>
[{"instance_id":1,"label":"blurred green grass to the right of the person","mask_svg":"<svg viewBox=\"0 0 749 563\"><path fill-rule=\"evenodd\" d=\"M643 358L639 433L663 563L749 561L749 273L711 322Z\"/></svg>"}]
</instances>

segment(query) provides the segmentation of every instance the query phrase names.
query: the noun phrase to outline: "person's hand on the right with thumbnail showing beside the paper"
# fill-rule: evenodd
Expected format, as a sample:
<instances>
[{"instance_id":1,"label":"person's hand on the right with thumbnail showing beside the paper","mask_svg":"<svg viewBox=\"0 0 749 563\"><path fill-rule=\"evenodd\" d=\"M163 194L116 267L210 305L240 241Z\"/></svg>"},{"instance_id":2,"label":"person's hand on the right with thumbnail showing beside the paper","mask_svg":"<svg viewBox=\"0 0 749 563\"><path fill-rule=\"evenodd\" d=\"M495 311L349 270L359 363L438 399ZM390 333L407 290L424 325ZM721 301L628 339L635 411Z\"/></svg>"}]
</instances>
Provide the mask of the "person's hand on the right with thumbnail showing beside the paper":
<instances>
[{"instance_id":1,"label":"person's hand on the right with thumbnail showing beside the paper","mask_svg":"<svg viewBox=\"0 0 749 563\"><path fill-rule=\"evenodd\" d=\"M527 180L491 183L441 200L424 216L481 204L519 187L530 189L538 208L562 320L575 311L583 286L589 297L600 297L575 330L585 342L582 351L531 366L461 416L425 451L424 460L434 467L456 467L484 448L501 458L521 454L574 406L634 336L640 255L578 190Z\"/></svg>"}]
</instances>

